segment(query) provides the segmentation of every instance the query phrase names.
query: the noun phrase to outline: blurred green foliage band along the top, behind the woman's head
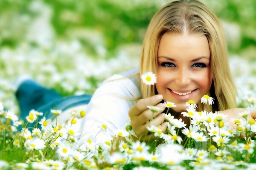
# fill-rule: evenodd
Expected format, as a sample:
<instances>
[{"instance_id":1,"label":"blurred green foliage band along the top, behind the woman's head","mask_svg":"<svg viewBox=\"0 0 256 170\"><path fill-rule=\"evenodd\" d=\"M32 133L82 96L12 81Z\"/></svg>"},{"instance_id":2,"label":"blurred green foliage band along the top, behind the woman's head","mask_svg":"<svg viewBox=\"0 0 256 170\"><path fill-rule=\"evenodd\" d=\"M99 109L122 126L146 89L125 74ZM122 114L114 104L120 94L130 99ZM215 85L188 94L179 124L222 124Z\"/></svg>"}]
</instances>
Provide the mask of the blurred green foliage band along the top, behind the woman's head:
<instances>
[{"instance_id":1,"label":"blurred green foliage band along the top, behind the woman's head","mask_svg":"<svg viewBox=\"0 0 256 170\"><path fill-rule=\"evenodd\" d=\"M141 44L154 13L170 0L1 0L0 45L79 40L87 54L114 57L122 45ZM222 21L231 53L256 53L255 0L201 0ZM49 46L52 44L48 44Z\"/></svg>"}]
</instances>

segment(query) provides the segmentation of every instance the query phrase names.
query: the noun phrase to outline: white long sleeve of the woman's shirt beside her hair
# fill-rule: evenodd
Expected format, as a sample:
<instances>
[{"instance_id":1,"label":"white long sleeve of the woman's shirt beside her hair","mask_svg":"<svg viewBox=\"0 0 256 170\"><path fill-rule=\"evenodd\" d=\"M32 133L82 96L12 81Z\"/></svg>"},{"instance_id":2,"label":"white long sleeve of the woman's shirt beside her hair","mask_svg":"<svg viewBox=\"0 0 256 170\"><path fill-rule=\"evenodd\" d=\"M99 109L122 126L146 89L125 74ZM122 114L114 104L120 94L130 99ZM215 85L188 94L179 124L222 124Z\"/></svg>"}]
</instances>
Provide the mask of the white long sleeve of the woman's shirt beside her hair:
<instances>
[{"instance_id":1,"label":"white long sleeve of the woman's shirt beside her hair","mask_svg":"<svg viewBox=\"0 0 256 170\"><path fill-rule=\"evenodd\" d=\"M125 128L128 123L128 111L136 104L135 99L141 96L139 90L139 74L127 78L138 72L130 71L121 75L113 75L105 80L92 96L87 106L87 115L81 120L79 143L83 143L89 136L95 136L100 126L105 124L107 131L97 135L98 140L112 136L115 130Z\"/></svg>"}]
</instances>

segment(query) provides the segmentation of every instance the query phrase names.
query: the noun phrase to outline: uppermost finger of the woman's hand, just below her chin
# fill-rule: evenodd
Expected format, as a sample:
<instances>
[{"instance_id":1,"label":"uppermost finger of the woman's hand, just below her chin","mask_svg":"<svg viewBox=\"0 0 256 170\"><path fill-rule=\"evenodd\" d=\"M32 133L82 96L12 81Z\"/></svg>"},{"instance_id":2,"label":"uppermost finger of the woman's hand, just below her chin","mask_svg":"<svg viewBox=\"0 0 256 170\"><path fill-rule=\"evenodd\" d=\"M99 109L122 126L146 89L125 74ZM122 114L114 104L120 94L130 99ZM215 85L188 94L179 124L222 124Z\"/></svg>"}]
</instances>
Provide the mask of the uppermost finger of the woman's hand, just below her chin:
<instances>
[{"instance_id":1,"label":"uppermost finger of the woman's hand, just below her chin","mask_svg":"<svg viewBox=\"0 0 256 170\"><path fill-rule=\"evenodd\" d=\"M147 110L148 105L156 105L157 103L161 102L163 100L163 96L160 94L157 94L155 96L148 97L146 99L142 99L137 102L136 105L134 105L130 111L129 116L137 116L143 111Z\"/></svg>"}]
</instances>

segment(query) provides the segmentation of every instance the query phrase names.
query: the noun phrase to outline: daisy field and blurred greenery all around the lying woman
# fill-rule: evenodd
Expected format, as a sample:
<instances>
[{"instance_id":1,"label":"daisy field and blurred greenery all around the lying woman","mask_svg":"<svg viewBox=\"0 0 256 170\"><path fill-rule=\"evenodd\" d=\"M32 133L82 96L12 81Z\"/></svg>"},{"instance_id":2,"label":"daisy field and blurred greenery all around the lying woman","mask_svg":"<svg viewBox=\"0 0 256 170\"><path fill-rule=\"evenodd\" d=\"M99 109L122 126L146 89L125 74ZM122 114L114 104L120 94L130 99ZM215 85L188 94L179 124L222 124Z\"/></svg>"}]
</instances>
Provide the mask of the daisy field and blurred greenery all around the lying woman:
<instances>
[{"instance_id":1,"label":"daisy field and blurred greenery all around the lying woman","mask_svg":"<svg viewBox=\"0 0 256 170\"><path fill-rule=\"evenodd\" d=\"M196 106L188 101L183 116L190 117L189 128L167 111L167 133L148 127L154 141L135 142L130 126L99 141L97 136L108 129L102 125L99 133L83 144L78 143L80 134L75 129L79 119L86 117L85 111L70 112L66 124L59 124L58 119L38 119L44 113L33 110L25 122L20 121L15 98L20 76L68 96L93 94L104 79L138 68L146 26L154 12L167 3L159 2L0 2L5 7L0 11L0 170L256 169L256 123L247 116L256 110L256 24L251 22L256 3L227 0L221 1L220 7L219 1L205 2L215 7L218 17L224 14L220 17L227 33L237 106L247 108L239 117L230 120L221 113L196 112ZM247 15L245 9L250 11ZM230 14L236 18L232 20ZM112 20L115 23L109 24ZM205 105L214 102L208 97L201 100ZM166 102L166 107L175 107L175 103ZM149 109L154 112L157 108ZM33 122L35 126L29 127Z\"/></svg>"}]
</instances>

